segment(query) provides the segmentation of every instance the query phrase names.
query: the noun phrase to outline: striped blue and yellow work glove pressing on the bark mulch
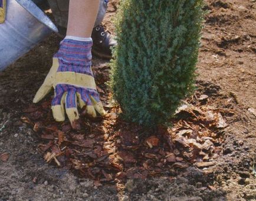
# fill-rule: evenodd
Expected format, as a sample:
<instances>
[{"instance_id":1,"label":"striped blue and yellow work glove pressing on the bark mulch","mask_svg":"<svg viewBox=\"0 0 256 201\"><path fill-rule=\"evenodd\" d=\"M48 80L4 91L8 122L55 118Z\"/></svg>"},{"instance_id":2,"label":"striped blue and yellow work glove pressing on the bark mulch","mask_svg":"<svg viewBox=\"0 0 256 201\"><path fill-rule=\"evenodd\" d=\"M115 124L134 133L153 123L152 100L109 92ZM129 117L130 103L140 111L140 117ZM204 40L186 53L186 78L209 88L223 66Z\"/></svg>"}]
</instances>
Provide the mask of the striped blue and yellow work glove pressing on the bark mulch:
<instances>
[{"instance_id":1,"label":"striped blue and yellow work glove pressing on the bark mulch","mask_svg":"<svg viewBox=\"0 0 256 201\"><path fill-rule=\"evenodd\" d=\"M50 72L35 95L33 102L37 103L53 86L55 95L51 108L57 121L64 121L66 112L73 125L79 118L77 99L80 108L86 106L88 115L96 117L96 111L105 114L91 71L92 45L92 41L64 39L54 55Z\"/></svg>"}]
</instances>

